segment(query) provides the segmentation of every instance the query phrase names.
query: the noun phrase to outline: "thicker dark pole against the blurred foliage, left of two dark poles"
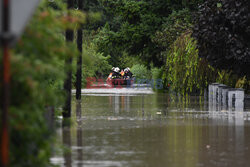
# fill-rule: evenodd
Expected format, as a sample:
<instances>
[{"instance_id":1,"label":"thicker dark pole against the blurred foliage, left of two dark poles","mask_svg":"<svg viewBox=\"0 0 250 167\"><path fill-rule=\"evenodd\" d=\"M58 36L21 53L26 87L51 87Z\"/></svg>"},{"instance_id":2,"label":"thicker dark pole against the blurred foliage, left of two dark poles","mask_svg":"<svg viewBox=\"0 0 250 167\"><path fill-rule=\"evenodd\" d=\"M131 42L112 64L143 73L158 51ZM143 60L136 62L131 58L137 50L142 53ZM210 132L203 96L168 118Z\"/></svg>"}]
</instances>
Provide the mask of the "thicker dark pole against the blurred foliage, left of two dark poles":
<instances>
[{"instance_id":1,"label":"thicker dark pole against the blurred foliage, left of two dark poles","mask_svg":"<svg viewBox=\"0 0 250 167\"><path fill-rule=\"evenodd\" d=\"M74 0L68 0L68 9L73 9ZM66 30L66 41L72 42L74 40L74 32L73 30ZM66 101L63 107L63 117L69 118L71 116L71 89L72 89L72 56L70 55L65 60L65 69L67 70L67 76L64 81L64 90L66 92Z\"/></svg>"}]
</instances>

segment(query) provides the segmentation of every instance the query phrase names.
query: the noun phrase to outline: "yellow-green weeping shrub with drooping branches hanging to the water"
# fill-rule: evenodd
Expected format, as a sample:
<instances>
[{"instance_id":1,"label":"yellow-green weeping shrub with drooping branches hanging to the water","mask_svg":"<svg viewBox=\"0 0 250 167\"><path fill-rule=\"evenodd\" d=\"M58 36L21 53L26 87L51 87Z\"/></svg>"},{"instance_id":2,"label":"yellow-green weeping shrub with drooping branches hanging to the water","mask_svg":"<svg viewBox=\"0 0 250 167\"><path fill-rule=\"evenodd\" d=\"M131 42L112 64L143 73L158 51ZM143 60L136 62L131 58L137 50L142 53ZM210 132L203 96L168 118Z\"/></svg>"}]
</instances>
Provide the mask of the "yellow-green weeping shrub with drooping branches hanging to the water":
<instances>
[{"instance_id":1,"label":"yellow-green weeping shrub with drooping branches hanging to the water","mask_svg":"<svg viewBox=\"0 0 250 167\"><path fill-rule=\"evenodd\" d=\"M166 66L167 83L182 94L202 92L215 74L207 62L198 57L196 42L190 32L184 33L171 46Z\"/></svg>"}]
</instances>

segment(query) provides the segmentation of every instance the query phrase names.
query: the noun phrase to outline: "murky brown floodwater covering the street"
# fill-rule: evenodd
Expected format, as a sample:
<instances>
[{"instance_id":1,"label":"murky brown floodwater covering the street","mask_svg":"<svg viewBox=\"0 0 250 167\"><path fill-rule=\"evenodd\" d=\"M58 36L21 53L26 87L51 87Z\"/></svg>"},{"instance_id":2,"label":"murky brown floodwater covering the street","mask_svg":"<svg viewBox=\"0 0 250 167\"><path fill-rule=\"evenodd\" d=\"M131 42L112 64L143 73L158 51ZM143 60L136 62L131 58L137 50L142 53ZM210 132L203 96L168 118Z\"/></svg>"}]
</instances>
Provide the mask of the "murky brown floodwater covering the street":
<instances>
[{"instance_id":1,"label":"murky brown floodwater covering the street","mask_svg":"<svg viewBox=\"0 0 250 167\"><path fill-rule=\"evenodd\" d=\"M62 167L250 166L246 104L211 110L199 96L127 92L87 92L73 101L71 126L62 127L59 119L51 162Z\"/></svg>"}]
</instances>

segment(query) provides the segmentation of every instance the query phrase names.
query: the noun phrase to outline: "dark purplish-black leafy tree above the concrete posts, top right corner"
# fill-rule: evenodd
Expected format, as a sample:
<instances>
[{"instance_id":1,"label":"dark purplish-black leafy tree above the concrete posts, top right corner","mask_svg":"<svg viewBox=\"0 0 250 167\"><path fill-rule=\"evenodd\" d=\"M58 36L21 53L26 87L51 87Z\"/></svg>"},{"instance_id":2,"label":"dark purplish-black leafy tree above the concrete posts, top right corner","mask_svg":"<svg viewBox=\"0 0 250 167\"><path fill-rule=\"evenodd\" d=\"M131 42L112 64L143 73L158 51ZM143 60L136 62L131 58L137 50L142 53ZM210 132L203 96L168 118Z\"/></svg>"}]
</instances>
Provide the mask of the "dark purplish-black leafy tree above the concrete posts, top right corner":
<instances>
[{"instance_id":1,"label":"dark purplish-black leafy tree above the concrete posts, top right corner","mask_svg":"<svg viewBox=\"0 0 250 167\"><path fill-rule=\"evenodd\" d=\"M202 4L193 30L199 56L216 68L249 77L249 13L249 0L207 0Z\"/></svg>"}]
</instances>

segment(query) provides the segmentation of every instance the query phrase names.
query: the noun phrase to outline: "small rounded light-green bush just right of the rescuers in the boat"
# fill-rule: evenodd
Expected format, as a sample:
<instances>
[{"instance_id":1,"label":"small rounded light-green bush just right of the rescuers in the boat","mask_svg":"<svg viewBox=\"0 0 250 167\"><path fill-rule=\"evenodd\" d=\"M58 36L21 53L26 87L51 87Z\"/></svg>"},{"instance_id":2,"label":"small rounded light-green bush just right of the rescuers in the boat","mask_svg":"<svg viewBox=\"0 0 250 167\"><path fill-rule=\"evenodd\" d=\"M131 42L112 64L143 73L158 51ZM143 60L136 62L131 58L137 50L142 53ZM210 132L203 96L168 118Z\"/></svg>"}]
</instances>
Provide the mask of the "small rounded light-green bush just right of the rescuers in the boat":
<instances>
[{"instance_id":1,"label":"small rounded light-green bush just right of the rescuers in the boat","mask_svg":"<svg viewBox=\"0 0 250 167\"><path fill-rule=\"evenodd\" d=\"M133 65L133 67L131 68L131 72L134 74L136 79L151 79L150 71L144 65Z\"/></svg>"}]
</instances>

